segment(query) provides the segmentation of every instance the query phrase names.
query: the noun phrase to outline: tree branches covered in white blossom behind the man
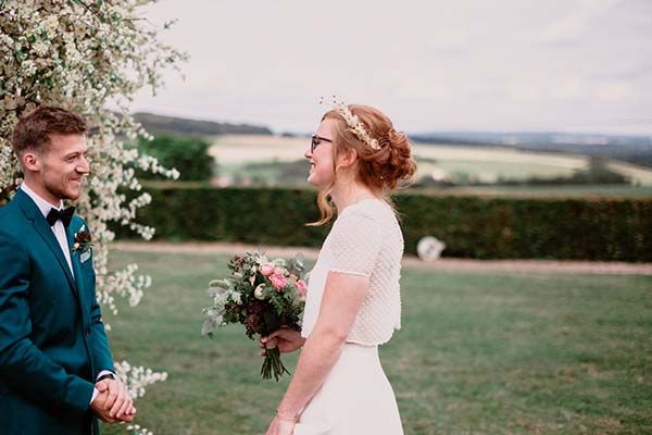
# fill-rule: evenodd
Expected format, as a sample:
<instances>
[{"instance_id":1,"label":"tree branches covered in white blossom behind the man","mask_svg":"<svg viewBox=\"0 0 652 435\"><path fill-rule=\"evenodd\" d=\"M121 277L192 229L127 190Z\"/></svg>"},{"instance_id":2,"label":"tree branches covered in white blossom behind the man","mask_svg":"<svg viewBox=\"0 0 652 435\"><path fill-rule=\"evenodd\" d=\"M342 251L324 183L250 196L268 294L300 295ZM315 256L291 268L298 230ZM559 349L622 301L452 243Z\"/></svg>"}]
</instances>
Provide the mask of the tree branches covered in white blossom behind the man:
<instances>
[{"instance_id":1,"label":"tree branches covered in white blossom behind the man","mask_svg":"<svg viewBox=\"0 0 652 435\"><path fill-rule=\"evenodd\" d=\"M136 211L151 201L135 177L141 169L178 177L175 170L140 156L125 140L150 137L130 115L134 95L155 94L162 71L178 70L186 54L159 39L161 27L145 17L149 0L0 0L0 203L21 183L10 139L17 120L41 103L70 109L91 130L87 137L91 174L76 203L93 237L98 300L117 314L115 297L140 301L151 278L137 264L109 271L110 222L129 226L145 239L154 228L136 222ZM163 25L163 29L172 23ZM134 195L127 199L126 191ZM116 363L133 397L163 381L165 373L127 361ZM138 428L140 433L148 433Z\"/></svg>"}]
</instances>

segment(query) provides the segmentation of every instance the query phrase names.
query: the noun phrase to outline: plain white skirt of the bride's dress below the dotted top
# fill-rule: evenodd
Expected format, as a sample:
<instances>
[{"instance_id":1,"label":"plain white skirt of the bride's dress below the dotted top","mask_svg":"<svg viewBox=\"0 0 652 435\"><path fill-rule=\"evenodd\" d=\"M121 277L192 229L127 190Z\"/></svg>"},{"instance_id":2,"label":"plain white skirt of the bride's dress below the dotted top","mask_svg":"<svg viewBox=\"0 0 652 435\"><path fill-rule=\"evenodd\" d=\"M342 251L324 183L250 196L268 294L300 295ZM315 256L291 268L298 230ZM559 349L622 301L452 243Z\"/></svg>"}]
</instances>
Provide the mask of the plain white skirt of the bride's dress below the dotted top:
<instances>
[{"instance_id":1,"label":"plain white skirt of the bride's dress below the dotted top","mask_svg":"<svg viewBox=\"0 0 652 435\"><path fill-rule=\"evenodd\" d=\"M393 390L377 346L347 343L322 388L299 415L294 435L402 435Z\"/></svg>"}]
</instances>

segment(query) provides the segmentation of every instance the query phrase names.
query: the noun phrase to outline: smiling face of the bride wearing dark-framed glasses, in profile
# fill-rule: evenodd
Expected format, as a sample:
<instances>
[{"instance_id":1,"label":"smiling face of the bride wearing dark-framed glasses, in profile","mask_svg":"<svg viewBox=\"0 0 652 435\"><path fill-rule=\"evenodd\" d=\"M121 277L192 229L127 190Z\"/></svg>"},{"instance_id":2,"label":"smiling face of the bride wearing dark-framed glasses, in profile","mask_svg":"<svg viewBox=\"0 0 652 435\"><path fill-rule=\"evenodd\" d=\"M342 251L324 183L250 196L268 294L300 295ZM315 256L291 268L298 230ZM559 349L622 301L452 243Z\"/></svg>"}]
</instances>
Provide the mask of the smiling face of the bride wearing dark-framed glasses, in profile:
<instances>
[{"instance_id":1,"label":"smiling face of the bride wearing dark-framed glasses, in profile","mask_svg":"<svg viewBox=\"0 0 652 435\"><path fill-rule=\"evenodd\" d=\"M322 121L313 135L311 149L303 154L310 162L308 183L319 189L327 187L333 181L334 130L334 120Z\"/></svg>"}]
</instances>

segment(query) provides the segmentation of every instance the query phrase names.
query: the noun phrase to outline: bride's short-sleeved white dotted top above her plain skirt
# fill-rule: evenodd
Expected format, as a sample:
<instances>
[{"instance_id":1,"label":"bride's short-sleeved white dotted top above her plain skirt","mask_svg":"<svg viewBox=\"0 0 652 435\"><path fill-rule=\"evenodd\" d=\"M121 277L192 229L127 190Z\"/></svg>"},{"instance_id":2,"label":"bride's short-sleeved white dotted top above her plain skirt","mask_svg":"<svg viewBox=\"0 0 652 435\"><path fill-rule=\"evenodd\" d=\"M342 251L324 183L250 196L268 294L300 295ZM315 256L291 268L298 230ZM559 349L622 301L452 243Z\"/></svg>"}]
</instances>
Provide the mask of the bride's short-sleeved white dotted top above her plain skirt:
<instances>
[{"instance_id":1,"label":"bride's short-sleeved white dotted top above her plain skirt","mask_svg":"<svg viewBox=\"0 0 652 435\"><path fill-rule=\"evenodd\" d=\"M401 327L399 278L403 235L391 208L366 199L347 207L335 221L309 275L302 336L312 332L328 272L362 275L369 287L347 341L366 346L388 341Z\"/></svg>"}]
</instances>

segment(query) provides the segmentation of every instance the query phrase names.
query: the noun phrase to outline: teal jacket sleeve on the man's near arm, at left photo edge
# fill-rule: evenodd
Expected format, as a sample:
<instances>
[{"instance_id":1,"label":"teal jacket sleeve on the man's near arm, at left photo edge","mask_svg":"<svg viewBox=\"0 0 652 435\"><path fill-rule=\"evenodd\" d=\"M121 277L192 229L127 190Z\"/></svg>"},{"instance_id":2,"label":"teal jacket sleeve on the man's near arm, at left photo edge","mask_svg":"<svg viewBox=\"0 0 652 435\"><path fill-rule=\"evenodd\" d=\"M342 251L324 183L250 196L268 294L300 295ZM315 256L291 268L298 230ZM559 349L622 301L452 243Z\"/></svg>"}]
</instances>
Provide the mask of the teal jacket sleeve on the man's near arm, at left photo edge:
<instances>
[{"instance_id":1,"label":"teal jacket sleeve on the man's near arm, at left photo edge","mask_svg":"<svg viewBox=\"0 0 652 435\"><path fill-rule=\"evenodd\" d=\"M0 264L0 378L43 408L85 413L93 384L66 373L29 339L29 258L2 229Z\"/></svg>"}]
</instances>

